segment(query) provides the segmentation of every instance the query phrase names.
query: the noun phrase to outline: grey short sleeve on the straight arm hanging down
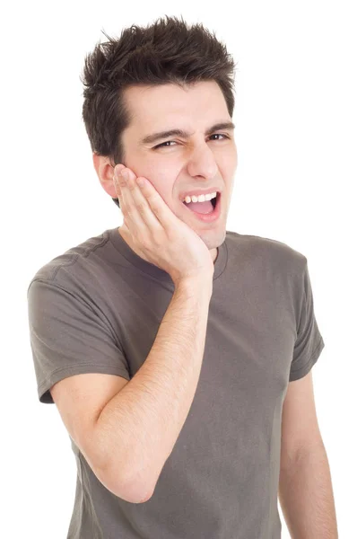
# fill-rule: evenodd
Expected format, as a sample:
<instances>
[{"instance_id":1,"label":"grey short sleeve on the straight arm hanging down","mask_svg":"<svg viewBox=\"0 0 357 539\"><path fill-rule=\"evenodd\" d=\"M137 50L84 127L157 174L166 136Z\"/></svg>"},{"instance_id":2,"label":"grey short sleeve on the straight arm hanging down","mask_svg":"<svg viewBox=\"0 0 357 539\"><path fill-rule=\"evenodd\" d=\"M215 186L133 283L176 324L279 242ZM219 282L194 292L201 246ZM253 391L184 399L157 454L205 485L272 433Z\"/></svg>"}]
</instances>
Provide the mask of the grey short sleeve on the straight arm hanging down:
<instances>
[{"instance_id":1,"label":"grey short sleeve on the straight arm hanging down","mask_svg":"<svg viewBox=\"0 0 357 539\"><path fill-rule=\"evenodd\" d=\"M289 382L306 376L318 361L318 357L325 347L314 313L314 300L307 261L302 278L301 294L300 322L293 349Z\"/></svg>"}]
</instances>

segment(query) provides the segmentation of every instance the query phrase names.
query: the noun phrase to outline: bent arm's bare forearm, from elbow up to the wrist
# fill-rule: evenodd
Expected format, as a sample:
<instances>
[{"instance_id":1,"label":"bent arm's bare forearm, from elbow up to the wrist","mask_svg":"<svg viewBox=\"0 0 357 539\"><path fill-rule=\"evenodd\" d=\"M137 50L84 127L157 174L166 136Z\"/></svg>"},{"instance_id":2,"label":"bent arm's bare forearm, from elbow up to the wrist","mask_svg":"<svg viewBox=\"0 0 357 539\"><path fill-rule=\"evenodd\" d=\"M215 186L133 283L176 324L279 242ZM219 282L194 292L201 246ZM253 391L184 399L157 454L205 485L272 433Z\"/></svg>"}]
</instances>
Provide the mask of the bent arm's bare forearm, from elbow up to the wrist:
<instances>
[{"instance_id":1,"label":"bent arm's bare forearm, from elbow up to the wrist","mask_svg":"<svg viewBox=\"0 0 357 539\"><path fill-rule=\"evenodd\" d=\"M114 493L125 484L133 500L151 495L179 437L201 372L212 280L175 288L143 366L100 413L103 477Z\"/></svg>"}]
</instances>

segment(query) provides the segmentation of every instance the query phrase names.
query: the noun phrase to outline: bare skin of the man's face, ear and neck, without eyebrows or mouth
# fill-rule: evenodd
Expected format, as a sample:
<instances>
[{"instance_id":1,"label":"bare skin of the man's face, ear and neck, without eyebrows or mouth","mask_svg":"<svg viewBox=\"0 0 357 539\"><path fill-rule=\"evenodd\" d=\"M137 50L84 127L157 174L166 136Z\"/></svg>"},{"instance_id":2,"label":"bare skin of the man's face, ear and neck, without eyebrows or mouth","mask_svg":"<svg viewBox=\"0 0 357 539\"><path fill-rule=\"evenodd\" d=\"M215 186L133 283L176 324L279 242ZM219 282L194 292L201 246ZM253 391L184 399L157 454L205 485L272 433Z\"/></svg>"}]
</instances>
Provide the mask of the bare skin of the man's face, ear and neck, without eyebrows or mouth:
<instances>
[{"instance_id":1,"label":"bare skin of the man's face, ear and neck, without eyebrows or mouth","mask_svg":"<svg viewBox=\"0 0 357 539\"><path fill-rule=\"evenodd\" d=\"M205 242L214 262L217 247L222 245L226 235L234 173L238 164L233 129L221 129L205 136L205 129L218 121L231 121L221 88L214 81L196 83L187 89L175 84L132 86L126 88L125 100L133 119L121 135L125 154L125 163L122 164L136 176L144 176L152 182L171 211ZM182 128L193 134L187 139L167 137L141 146L140 139L144 136L170 128ZM153 146L167 140L174 142L153 149ZM109 157L93 154L93 164L102 188L110 197L118 198ZM187 211L179 199L179 193L213 186L222 191L221 216L218 221L207 224ZM134 246L125 224L118 228L118 234L138 256L147 261L144 253Z\"/></svg>"}]
</instances>

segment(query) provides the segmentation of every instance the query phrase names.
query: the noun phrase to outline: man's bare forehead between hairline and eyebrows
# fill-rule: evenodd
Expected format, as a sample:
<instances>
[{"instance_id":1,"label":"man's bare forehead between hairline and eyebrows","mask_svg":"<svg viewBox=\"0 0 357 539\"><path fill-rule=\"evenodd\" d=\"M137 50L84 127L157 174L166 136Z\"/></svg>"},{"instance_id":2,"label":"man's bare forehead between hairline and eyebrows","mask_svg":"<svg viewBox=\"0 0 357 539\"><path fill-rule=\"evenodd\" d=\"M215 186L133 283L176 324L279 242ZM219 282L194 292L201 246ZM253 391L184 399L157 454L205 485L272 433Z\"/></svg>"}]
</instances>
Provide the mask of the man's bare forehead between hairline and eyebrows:
<instances>
[{"instance_id":1,"label":"man's bare forehead between hairline and eyebrows","mask_svg":"<svg viewBox=\"0 0 357 539\"><path fill-rule=\"evenodd\" d=\"M185 88L177 84L137 85L124 91L131 116L129 130L160 131L168 125L205 129L217 118L230 119L222 90L214 81Z\"/></svg>"}]
</instances>

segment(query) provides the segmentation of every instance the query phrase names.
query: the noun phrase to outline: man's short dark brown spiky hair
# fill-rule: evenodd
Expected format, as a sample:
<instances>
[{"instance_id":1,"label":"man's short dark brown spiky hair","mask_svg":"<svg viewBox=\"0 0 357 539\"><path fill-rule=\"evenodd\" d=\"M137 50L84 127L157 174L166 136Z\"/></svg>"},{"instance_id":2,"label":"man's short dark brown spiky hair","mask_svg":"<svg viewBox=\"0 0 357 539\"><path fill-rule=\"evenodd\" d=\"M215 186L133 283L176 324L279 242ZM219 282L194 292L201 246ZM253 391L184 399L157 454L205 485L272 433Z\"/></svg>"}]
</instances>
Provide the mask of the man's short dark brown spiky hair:
<instances>
[{"instance_id":1,"label":"man's short dark brown spiky hair","mask_svg":"<svg viewBox=\"0 0 357 539\"><path fill-rule=\"evenodd\" d=\"M219 84L230 116L234 110L235 63L224 44L196 23L165 15L146 28L132 25L120 38L97 43L86 55L83 75L83 121L91 151L125 163L121 133L130 125L123 90L135 85L200 81ZM113 199L119 206L118 199Z\"/></svg>"}]
</instances>

